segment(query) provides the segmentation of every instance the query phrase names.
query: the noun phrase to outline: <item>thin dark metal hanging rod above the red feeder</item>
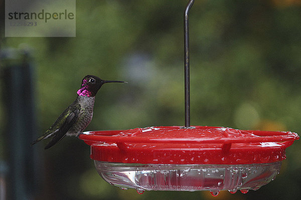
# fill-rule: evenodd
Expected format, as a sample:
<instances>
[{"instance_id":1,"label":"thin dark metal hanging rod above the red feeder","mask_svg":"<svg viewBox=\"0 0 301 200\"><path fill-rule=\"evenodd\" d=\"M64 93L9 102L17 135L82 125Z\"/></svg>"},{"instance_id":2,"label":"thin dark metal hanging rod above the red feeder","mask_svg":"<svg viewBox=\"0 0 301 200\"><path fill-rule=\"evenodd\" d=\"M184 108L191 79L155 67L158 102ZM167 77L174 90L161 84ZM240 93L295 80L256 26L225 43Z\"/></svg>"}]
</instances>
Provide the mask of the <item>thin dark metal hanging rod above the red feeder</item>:
<instances>
[{"instance_id":1,"label":"thin dark metal hanging rod above the red feeder","mask_svg":"<svg viewBox=\"0 0 301 200\"><path fill-rule=\"evenodd\" d=\"M190 71L189 71L189 10L194 0L190 0L184 12L184 76L185 76L185 127L190 127Z\"/></svg>"}]
</instances>

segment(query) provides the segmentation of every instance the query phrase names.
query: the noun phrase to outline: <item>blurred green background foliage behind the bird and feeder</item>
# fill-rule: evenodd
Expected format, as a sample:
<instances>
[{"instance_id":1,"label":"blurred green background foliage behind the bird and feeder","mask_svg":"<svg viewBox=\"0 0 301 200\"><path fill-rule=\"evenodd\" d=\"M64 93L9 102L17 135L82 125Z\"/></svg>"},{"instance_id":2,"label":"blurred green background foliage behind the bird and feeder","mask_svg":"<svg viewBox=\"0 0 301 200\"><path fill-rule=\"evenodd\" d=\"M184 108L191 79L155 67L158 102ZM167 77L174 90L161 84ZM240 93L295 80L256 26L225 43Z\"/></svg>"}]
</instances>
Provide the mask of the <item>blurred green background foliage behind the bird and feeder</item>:
<instances>
[{"instance_id":1,"label":"blurred green background foliage behind the bird and feeder","mask_svg":"<svg viewBox=\"0 0 301 200\"><path fill-rule=\"evenodd\" d=\"M39 135L76 98L87 74L128 84L100 89L86 130L184 125L187 2L77 0L76 37L4 37L2 24L2 49L32 49ZM190 12L191 124L300 133L300 19L299 0L196 0ZM0 103L0 159L5 160L9 149L4 147L8 132L3 110ZM45 144L33 147L39 149L44 168L34 199L301 197L299 141L287 149L275 180L257 191L222 191L217 197L208 191L121 190L97 174L83 141L65 137L48 150Z\"/></svg>"}]
</instances>

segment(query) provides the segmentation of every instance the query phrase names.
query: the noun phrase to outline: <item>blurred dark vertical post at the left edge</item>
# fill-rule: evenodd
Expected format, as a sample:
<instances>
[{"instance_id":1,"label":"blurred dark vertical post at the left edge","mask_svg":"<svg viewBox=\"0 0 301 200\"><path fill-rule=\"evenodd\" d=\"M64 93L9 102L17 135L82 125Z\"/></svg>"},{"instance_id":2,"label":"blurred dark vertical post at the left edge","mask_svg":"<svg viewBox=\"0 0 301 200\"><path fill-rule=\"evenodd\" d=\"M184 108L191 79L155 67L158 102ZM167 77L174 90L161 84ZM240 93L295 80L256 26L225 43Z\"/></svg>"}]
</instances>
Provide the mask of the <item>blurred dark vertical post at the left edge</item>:
<instances>
[{"instance_id":1,"label":"blurred dark vertical post at the left edge","mask_svg":"<svg viewBox=\"0 0 301 200\"><path fill-rule=\"evenodd\" d=\"M6 144L9 177L8 199L32 199L37 188L37 149L30 144L37 135L34 69L28 51L4 49L2 97L6 110Z\"/></svg>"}]
</instances>

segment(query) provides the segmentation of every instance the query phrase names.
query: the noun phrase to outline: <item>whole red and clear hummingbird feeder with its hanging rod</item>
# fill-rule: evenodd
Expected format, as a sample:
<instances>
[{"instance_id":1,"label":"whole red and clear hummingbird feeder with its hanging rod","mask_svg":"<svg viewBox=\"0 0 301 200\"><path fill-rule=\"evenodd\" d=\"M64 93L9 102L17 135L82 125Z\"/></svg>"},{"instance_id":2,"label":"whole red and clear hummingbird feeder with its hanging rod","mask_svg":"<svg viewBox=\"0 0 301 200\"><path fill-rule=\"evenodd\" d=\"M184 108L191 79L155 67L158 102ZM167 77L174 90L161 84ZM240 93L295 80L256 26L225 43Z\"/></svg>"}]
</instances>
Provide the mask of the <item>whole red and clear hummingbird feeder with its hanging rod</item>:
<instances>
[{"instance_id":1,"label":"whole red and clear hummingbird feeder with its hanging rod","mask_svg":"<svg viewBox=\"0 0 301 200\"><path fill-rule=\"evenodd\" d=\"M185 126L87 131L99 175L123 189L203 191L218 195L257 190L279 173L290 131L190 125L189 0L184 12Z\"/></svg>"}]
</instances>

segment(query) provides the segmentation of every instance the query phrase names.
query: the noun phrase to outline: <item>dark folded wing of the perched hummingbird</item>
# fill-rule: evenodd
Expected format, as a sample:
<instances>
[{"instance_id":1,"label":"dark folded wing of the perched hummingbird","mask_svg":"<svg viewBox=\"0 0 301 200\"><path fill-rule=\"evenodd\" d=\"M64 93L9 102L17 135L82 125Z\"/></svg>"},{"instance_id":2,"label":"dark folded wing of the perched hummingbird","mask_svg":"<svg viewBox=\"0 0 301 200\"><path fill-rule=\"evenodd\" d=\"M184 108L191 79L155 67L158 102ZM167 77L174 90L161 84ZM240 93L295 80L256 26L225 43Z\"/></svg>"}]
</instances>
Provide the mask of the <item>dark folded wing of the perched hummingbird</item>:
<instances>
[{"instance_id":1,"label":"dark folded wing of the perched hummingbird","mask_svg":"<svg viewBox=\"0 0 301 200\"><path fill-rule=\"evenodd\" d=\"M66 117L66 120L63 122L63 124L55 130L53 138L45 146L45 149L50 148L51 146L53 146L54 144L56 144L64 138L71 126L77 121L79 112L80 105L77 105L75 106L75 109L73 111L71 110L70 114ZM56 127L57 125L53 124L53 126Z\"/></svg>"}]
</instances>

